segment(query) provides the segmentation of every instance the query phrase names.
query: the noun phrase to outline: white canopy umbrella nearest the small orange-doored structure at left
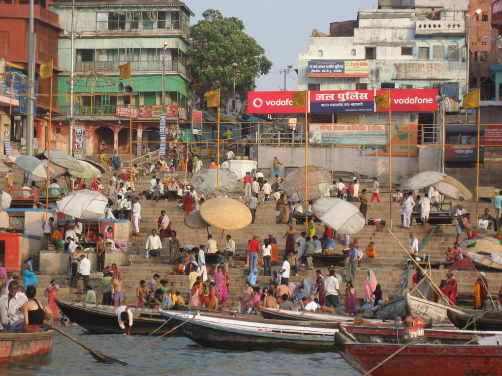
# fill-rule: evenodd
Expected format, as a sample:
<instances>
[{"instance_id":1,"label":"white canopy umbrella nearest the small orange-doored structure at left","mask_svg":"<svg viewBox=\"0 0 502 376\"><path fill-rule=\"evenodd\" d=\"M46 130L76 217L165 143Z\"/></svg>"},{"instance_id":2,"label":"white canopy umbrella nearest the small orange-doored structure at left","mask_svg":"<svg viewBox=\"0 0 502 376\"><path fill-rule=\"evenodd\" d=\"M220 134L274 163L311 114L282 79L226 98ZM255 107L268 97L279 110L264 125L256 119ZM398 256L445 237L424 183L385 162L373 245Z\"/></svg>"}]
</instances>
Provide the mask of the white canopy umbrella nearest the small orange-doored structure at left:
<instances>
[{"instance_id":1,"label":"white canopy umbrella nearest the small orange-doored structure at left","mask_svg":"<svg viewBox=\"0 0 502 376\"><path fill-rule=\"evenodd\" d=\"M56 201L61 213L80 219L104 217L107 204L108 199L104 195L89 190L72 191Z\"/></svg>"}]
</instances>

